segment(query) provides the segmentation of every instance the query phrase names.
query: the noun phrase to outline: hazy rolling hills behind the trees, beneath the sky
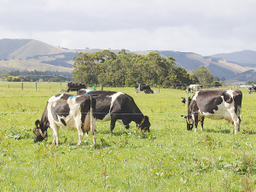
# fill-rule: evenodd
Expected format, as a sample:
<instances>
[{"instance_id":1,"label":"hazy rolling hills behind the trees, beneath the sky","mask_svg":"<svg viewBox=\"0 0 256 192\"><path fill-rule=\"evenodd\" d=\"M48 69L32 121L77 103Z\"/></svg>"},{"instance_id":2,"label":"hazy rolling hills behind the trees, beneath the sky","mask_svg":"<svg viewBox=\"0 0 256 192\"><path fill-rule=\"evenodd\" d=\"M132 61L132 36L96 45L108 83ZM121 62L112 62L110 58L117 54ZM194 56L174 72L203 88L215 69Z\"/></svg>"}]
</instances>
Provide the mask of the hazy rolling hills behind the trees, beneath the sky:
<instances>
[{"instance_id":1,"label":"hazy rolling hills behind the trees, beneath the sky","mask_svg":"<svg viewBox=\"0 0 256 192\"><path fill-rule=\"evenodd\" d=\"M15 70L73 71L73 57L79 52L96 53L102 49L70 50L55 47L34 39L0 39L0 72ZM112 49L115 54L119 49ZM149 52L159 53L163 57L172 56L177 66L188 71L196 67L207 67L218 78L248 81L256 79L256 52L244 50L230 54L202 56L191 52L172 50L134 51L139 55ZM127 52L130 52L127 50Z\"/></svg>"}]
</instances>

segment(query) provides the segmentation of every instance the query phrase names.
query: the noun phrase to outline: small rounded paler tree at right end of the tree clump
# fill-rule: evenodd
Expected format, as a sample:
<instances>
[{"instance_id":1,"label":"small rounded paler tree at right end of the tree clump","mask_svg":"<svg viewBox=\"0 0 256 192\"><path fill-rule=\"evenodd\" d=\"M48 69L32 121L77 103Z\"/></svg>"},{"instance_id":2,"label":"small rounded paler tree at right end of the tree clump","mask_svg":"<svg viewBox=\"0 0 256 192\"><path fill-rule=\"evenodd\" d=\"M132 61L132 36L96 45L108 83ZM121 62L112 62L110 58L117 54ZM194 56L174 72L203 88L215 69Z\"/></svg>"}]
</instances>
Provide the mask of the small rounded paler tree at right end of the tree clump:
<instances>
[{"instance_id":1,"label":"small rounded paler tree at right end of the tree clump","mask_svg":"<svg viewBox=\"0 0 256 192\"><path fill-rule=\"evenodd\" d=\"M206 67L197 67L195 71L192 71L192 73L195 74L200 80L201 84L204 84L205 86L208 86L213 82L213 75Z\"/></svg>"}]
</instances>

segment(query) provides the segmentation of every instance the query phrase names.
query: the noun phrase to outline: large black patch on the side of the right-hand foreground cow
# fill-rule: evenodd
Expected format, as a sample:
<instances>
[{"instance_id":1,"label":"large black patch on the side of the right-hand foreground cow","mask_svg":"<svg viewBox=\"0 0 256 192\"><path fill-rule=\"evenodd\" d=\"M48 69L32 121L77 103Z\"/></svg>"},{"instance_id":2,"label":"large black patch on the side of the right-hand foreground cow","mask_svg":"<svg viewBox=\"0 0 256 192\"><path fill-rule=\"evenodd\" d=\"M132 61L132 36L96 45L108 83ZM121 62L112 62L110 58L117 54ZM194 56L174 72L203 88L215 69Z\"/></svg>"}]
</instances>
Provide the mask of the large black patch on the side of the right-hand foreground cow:
<instances>
[{"instance_id":1,"label":"large black patch on the side of the right-hand foreground cow","mask_svg":"<svg viewBox=\"0 0 256 192\"><path fill-rule=\"evenodd\" d=\"M215 93L214 93L215 92ZM216 94L216 93L219 94ZM214 93L214 94L212 94ZM204 113L214 113L213 110L217 111L218 110L218 105L220 105L223 102L223 99L221 97L223 91L222 90L201 90L198 92L198 96L196 97L196 104L197 108L201 109L201 112ZM190 102L190 105L193 102ZM189 108L190 108L189 105ZM194 112L193 108L192 111Z\"/></svg>"}]
</instances>

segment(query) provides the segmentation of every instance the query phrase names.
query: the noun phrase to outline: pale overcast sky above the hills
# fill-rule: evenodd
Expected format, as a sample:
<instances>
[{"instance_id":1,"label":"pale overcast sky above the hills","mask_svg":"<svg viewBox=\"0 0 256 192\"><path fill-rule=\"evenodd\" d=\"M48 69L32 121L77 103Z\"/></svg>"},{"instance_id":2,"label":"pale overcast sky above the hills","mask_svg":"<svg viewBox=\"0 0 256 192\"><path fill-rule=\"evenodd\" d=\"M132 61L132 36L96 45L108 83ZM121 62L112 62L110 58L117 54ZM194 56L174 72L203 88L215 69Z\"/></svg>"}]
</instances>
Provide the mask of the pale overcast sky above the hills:
<instances>
[{"instance_id":1,"label":"pale overcast sky above the hills","mask_svg":"<svg viewBox=\"0 0 256 192\"><path fill-rule=\"evenodd\" d=\"M0 0L0 39L67 49L256 51L255 0Z\"/></svg>"}]
</instances>

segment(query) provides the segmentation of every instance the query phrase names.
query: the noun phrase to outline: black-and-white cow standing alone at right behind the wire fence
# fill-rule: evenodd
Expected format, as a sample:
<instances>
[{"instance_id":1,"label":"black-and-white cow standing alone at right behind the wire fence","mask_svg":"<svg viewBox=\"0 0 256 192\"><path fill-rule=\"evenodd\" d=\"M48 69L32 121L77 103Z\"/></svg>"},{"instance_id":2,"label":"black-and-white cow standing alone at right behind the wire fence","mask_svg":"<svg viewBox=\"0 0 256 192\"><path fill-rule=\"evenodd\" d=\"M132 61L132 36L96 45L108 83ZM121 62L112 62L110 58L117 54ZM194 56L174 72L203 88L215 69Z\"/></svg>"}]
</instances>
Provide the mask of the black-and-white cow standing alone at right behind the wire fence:
<instances>
[{"instance_id":1,"label":"black-and-white cow standing alone at right behind the wire fence","mask_svg":"<svg viewBox=\"0 0 256 192\"><path fill-rule=\"evenodd\" d=\"M203 131L204 118L226 119L235 124L235 134L239 131L241 122L240 90L201 90L195 92L189 102L187 129L192 130L195 124L197 131L198 121L201 121Z\"/></svg>"}]
</instances>

